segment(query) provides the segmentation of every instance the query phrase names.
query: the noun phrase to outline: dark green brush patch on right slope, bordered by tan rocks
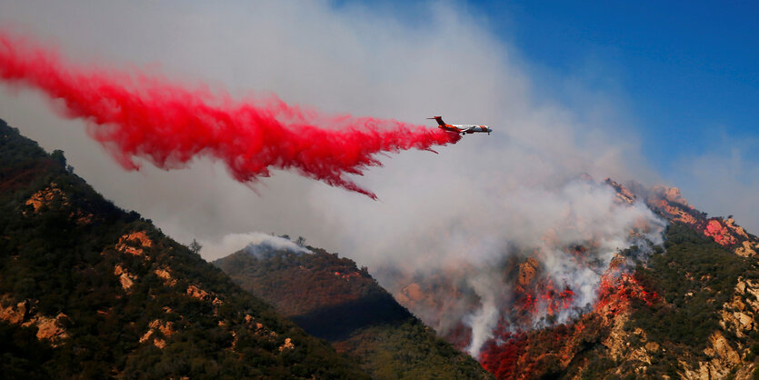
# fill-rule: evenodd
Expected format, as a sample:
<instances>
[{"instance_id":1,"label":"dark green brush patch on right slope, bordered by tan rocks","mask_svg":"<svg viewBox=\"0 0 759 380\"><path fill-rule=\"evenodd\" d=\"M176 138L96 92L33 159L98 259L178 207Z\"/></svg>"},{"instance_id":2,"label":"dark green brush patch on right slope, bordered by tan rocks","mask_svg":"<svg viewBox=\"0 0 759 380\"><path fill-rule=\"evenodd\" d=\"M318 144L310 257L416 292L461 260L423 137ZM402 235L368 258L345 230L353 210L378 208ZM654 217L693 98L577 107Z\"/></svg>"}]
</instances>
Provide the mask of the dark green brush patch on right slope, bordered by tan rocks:
<instances>
[{"instance_id":1,"label":"dark green brush patch on right slope, bordered by tan rocks","mask_svg":"<svg viewBox=\"0 0 759 380\"><path fill-rule=\"evenodd\" d=\"M734 296L739 277L759 278L756 260L735 255L682 224L667 228L664 248L636 269L639 282L663 299L635 304L628 327L643 328L650 340L671 346L675 353L687 353L691 361L704 360L709 336L721 331L718 313ZM751 346L759 336L730 338ZM661 358L670 372L676 366L674 356Z\"/></svg>"}]
</instances>

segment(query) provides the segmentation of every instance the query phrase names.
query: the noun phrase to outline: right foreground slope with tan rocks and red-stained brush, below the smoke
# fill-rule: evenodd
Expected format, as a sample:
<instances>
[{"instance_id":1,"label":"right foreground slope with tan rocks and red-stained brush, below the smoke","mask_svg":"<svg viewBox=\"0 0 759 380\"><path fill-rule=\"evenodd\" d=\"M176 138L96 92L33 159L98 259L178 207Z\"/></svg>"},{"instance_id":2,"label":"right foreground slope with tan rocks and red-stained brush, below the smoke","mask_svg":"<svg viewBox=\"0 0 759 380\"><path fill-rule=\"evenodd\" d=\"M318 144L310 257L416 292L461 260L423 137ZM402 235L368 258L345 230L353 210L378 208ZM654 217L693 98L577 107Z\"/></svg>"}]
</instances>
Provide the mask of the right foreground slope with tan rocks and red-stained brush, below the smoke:
<instances>
[{"instance_id":1,"label":"right foreground slope with tan rocks and red-stained brush, below the smoke","mask_svg":"<svg viewBox=\"0 0 759 380\"><path fill-rule=\"evenodd\" d=\"M607 183L620 199L640 197L672 223L664 246L648 255L638 247L620 252L592 310L573 321L496 331L483 365L498 378L759 376L754 235L729 218L707 218L677 189Z\"/></svg>"}]
</instances>

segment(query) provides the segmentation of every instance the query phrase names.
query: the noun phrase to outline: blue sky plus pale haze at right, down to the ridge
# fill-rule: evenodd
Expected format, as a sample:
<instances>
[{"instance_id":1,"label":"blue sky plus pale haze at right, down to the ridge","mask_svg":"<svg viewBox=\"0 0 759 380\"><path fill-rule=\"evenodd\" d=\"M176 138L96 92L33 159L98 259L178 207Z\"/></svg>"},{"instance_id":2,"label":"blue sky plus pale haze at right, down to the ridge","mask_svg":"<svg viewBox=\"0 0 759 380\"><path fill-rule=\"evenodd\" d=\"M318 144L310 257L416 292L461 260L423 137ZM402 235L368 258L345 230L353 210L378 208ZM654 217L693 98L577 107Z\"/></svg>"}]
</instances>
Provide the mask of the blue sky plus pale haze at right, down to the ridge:
<instances>
[{"instance_id":1,"label":"blue sky plus pale haze at right, down to the ridge","mask_svg":"<svg viewBox=\"0 0 759 380\"><path fill-rule=\"evenodd\" d=\"M475 2L494 34L539 73L612 95L662 181L711 215L759 228L759 5L697 2ZM499 21L500 19L500 21ZM539 78L547 78L541 81Z\"/></svg>"}]
</instances>

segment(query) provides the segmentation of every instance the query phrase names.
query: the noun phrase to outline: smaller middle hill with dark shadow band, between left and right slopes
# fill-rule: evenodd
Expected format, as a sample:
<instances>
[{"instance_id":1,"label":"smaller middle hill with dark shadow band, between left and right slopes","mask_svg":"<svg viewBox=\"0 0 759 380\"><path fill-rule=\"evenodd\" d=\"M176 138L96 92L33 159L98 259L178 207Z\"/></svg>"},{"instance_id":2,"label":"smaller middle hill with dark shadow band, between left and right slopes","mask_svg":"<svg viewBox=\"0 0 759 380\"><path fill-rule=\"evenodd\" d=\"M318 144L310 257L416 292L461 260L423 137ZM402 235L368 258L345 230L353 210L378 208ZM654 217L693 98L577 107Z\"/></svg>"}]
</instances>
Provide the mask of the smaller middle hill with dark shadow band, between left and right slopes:
<instances>
[{"instance_id":1,"label":"smaller middle hill with dark shadow band, between left and right slopes","mask_svg":"<svg viewBox=\"0 0 759 380\"><path fill-rule=\"evenodd\" d=\"M366 268L324 250L243 250L215 261L306 332L355 357L376 378L486 378L474 359L424 326Z\"/></svg>"}]
</instances>

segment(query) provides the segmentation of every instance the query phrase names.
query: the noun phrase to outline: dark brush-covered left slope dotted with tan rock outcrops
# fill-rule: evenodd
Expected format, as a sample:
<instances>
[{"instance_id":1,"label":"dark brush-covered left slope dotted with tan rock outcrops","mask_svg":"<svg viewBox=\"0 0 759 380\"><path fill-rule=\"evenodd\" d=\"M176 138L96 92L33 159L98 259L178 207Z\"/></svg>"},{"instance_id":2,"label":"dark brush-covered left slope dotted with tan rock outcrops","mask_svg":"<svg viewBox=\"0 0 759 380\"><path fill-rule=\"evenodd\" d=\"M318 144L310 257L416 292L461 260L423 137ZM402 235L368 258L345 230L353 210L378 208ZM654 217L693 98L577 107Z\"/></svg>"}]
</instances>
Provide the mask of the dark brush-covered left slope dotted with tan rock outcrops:
<instances>
[{"instance_id":1,"label":"dark brush-covered left slope dotted with tan rock outcrops","mask_svg":"<svg viewBox=\"0 0 759 380\"><path fill-rule=\"evenodd\" d=\"M0 375L364 378L0 121Z\"/></svg>"}]
</instances>

